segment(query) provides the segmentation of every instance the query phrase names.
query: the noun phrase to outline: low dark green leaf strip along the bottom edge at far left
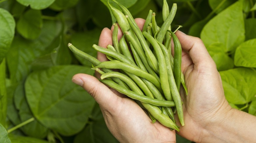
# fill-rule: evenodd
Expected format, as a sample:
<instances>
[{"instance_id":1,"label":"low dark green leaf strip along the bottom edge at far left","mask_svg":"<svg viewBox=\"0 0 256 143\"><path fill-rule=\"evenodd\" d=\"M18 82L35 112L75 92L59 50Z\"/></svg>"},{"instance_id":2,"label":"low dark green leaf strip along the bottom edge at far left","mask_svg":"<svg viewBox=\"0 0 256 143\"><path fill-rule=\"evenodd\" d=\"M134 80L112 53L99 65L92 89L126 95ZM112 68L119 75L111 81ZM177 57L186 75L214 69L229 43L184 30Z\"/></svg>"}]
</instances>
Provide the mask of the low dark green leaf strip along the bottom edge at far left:
<instances>
[{"instance_id":1,"label":"low dark green leaf strip along the bottom edge at far left","mask_svg":"<svg viewBox=\"0 0 256 143\"><path fill-rule=\"evenodd\" d=\"M49 143L45 140L19 135L9 135L12 143Z\"/></svg>"}]
</instances>

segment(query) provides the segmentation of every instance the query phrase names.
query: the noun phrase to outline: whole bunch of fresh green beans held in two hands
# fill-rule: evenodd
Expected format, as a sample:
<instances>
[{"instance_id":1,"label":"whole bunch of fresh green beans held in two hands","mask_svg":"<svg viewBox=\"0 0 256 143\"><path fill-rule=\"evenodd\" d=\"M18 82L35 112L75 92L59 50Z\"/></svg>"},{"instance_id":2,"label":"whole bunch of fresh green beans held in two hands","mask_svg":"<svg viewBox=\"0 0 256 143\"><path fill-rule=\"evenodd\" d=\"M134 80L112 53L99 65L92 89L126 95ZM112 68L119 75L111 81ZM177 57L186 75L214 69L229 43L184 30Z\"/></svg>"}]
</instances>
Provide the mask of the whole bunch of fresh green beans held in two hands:
<instances>
[{"instance_id":1,"label":"whole bunch of fresh green beans held in two hands","mask_svg":"<svg viewBox=\"0 0 256 143\"><path fill-rule=\"evenodd\" d=\"M179 131L173 111L178 114L184 126L180 86L183 86L186 94L187 88L181 72L181 44L171 31L177 4L174 3L169 11L164 0L164 23L161 27L157 25L155 13L149 10L141 31L129 10L116 0L113 1L121 9L113 7L108 0L109 8L117 20L117 24L113 24L113 45L107 48L93 45L109 61L100 62L71 43L68 44L69 48L92 63L92 69L101 74L99 81L134 99L148 112L153 122L158 120L162 125ZM119 41L118 25L123 33ZM171 54L171 39L174 43L174 56ZM111 69L118 69L119 72Z\"/></svg>"}]
</instances>

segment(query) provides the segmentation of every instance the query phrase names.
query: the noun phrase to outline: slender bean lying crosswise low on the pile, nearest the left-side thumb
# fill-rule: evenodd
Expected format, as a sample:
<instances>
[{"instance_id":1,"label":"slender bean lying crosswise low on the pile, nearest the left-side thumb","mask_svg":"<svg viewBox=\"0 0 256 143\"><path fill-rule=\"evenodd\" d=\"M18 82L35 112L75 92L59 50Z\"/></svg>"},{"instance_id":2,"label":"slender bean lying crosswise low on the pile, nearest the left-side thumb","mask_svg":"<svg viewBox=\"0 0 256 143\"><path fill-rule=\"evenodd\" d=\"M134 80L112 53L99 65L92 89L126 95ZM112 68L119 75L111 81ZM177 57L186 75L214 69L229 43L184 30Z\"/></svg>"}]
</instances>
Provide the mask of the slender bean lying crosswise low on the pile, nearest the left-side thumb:
<instances>
[{"instance_id":1,"label":"slender bean lying crosswise low on the pile, nearest the left-side thumb","mask_svg":"<svg viewBox=\"0 0 256 143\"><path fill-rule=\"evenodd\" d=\"M124 87L121 87L117 83L115 83L111 80L108 80L108 79L99 80L99 81L108 85L109 87L111 87L113 89L116 89L118 92L125 94L132 99L139 100L140 102L143 102L143 103L149 103L149 104L156 105L156 106L166 106L166 107L175 106L175 103L173 101L161 101L158 99L153 99L153 98L147 97L145 95L140 95L134 91L131 91Z\"/></svg>"}]
</instances>

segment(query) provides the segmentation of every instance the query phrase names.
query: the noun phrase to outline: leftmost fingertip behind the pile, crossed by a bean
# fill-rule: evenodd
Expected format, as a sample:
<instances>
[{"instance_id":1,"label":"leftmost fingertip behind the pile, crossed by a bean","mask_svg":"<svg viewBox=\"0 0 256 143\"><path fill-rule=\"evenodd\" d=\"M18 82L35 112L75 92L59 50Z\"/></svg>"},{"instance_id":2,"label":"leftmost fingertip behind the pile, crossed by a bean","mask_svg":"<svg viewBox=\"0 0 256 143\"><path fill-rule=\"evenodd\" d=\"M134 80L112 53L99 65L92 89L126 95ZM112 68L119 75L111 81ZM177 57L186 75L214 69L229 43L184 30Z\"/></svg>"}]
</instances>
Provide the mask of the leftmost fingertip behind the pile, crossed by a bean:
<instances>
[{"instance_id":1,"label":"leftmost fingertip behind the pile, crossed by a bean","mask_svg":"<svg viewBox=\"0 0 256 143\"><path fill-rule=\"evenodd\" d=\"M106 48L109 44L112 45L112 32L111 32L110 29L104 28L101 31L101 34L99 36L98 45L101 46L101 47ZM107 56L105 54L100 53L100 52L97 52L97 59L101 62L108 60Z\"/></svg>"}]
</instances>

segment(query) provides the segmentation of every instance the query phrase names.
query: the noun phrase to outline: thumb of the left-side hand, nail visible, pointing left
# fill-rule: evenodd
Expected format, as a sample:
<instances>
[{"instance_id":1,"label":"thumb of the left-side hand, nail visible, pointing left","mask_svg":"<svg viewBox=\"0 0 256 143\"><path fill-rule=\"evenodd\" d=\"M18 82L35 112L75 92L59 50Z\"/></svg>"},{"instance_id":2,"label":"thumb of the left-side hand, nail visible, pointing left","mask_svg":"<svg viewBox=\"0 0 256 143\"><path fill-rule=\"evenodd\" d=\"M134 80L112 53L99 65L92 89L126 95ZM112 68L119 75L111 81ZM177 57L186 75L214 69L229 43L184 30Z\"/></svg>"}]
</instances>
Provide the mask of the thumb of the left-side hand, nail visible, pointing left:
<instances>
[{"instance_id":1,"label":"thumb of the left-side hand, nail visible, pointing left","mask_svg":"<svg viewBox=\"0 0 256 143\"><path fill-rule=\"evenodd\" d=\"M120 98L94 76L78 73L72 81L83 87L103 108L115 105Z\"/></svg>"}]
</instances>

